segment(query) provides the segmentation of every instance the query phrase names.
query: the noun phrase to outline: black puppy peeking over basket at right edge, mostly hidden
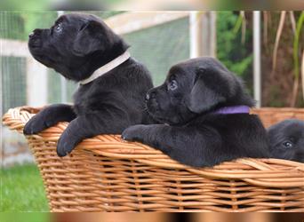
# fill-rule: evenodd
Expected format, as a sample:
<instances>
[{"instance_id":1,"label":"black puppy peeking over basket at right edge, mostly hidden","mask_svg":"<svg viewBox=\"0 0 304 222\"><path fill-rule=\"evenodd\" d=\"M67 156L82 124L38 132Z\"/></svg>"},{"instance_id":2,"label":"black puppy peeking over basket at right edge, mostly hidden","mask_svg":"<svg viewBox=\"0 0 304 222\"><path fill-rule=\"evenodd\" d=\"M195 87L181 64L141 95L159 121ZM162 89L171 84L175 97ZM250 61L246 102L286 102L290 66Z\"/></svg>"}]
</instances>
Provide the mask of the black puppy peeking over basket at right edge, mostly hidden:
<instances>
[{"instance_id":1,"label":"black puppy peeking over basket at right edge, mostly hidden","mask_svg":"<svg viewBox=\"0 0 304 222\"><path fill-rule=\"evenodd\" d=\"M304 163L304 121L284 120L268 128L272 158Z\"/></svg>"}]
</instances>

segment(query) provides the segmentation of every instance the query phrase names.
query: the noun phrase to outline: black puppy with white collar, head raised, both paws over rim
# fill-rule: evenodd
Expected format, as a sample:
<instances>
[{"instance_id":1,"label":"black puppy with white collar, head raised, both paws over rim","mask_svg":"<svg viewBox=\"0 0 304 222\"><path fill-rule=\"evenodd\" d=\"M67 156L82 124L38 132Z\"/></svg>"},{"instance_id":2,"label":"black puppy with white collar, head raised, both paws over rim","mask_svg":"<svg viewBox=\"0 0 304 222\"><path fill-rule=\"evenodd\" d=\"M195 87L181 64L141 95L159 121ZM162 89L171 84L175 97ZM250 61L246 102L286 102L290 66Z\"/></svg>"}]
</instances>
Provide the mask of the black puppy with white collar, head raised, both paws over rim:
<instances>
[{"instance_id":1,"label":"black puppy with white collar, head raised, both paws over rim","mask_svg":"<svg viewBox=\"0 0 304 222\"><path fill-rule=\"evenodd\" d=\"M63 15L52 28L35 29L28 47L36 60L80 82L74 106L46 107L24 128L30 135L70 122L58 141L59 156L68 155L85 138L150 123L144 111L145 95L153 87L148 70L130 58L129 46L98 17Z\"/></svg>"}]
</instances>

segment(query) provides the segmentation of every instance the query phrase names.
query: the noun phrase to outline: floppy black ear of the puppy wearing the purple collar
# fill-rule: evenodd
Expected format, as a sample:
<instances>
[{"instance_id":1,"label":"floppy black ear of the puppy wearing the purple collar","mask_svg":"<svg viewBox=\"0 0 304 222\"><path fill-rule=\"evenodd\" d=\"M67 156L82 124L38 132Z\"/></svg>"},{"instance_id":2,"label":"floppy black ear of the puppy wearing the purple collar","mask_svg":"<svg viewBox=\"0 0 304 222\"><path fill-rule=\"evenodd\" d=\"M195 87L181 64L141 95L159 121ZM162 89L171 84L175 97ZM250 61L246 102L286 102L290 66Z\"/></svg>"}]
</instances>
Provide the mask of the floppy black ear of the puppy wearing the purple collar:
<instances>
[{"instance_id":1,"label":"floppy black ear of the puppy wearing the purple collar","mask_svg":"<svg viewBox=\"0 0 304 222\"><path fill-rule=\"evenodd\" d=\"M188 109L196 114L207 111L226 100L220 93L214 91L214 89L212 90L204 83L202 77L204 69L200 69L198 72L196 82L186 102Z\"/></svg>"}]
</instances>

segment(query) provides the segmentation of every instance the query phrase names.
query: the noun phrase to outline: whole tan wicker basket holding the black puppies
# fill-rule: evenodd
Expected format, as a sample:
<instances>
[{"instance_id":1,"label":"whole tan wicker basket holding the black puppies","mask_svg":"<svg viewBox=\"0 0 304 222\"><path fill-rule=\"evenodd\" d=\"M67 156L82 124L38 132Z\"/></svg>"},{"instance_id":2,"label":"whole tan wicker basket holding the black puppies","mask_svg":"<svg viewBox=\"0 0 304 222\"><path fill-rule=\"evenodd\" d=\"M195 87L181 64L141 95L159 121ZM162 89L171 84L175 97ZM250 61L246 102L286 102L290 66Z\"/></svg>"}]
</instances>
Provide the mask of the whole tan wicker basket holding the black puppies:
<instances>
[{"instance_id":1,"label":"whole tan wicker basket holding the black puppies","mask_svg":"<svg viewBox=\"0 0 304 222\"><path fill-rule=\"evenodd\" d=\"M39 111L10 109L3 121L22 132ZM266 126L304 119L304 109L252 111ZM52 211L304 211L304 164L276 159L239 159L212 169L172 161L118 135L85 139L64 158L56 142L68 123L28 136Z\"/></svg>"}]
</instances>

